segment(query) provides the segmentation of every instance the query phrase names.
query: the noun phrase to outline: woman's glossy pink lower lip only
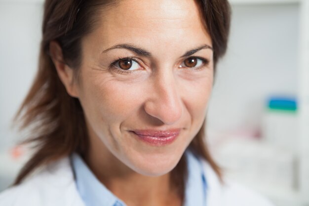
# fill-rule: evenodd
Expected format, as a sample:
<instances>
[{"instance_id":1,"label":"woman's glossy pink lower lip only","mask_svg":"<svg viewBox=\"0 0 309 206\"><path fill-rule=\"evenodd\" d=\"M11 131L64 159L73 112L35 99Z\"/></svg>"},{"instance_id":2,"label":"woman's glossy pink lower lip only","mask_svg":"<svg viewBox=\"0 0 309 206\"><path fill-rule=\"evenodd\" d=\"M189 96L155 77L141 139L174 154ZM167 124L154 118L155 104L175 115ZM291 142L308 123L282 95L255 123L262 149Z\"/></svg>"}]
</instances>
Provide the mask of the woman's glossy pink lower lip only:
<instances>
[{"instance_id":1,"label":"woman's glossy pink lower lip only","mask_svg":"<svg viewBox=\"0 0 309 206\"><path fill-rule=\"evenodd\" d=\"M164 146L171 144L175 141L178 137L179 133L172 134L171 136L148 136L148 135L141 135L135 132L132 132L135 136L139 137L140 140L147 142L154 146Z\"/></svg>"}]
</instances>

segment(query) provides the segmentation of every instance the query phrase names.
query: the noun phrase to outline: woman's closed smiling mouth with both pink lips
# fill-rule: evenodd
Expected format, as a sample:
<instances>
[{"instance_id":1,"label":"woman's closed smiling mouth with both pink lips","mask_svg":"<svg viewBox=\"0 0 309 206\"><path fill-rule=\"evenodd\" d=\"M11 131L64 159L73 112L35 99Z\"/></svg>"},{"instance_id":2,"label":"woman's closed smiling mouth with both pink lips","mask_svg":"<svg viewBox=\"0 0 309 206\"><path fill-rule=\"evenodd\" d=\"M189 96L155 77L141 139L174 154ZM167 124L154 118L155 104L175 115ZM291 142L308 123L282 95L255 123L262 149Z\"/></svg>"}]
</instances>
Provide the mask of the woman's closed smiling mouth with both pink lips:
<instances>
[{"instance_id":1,"label":"woman's closed smiling mouth with both pink lips","mask_svg":"<svg viewBox=\"0 0 309 206\"><path fill-rule=\"evenodd\" d=\"M165 146L174 142L179 136L180 129L170 130L134 130L131 131L138 140L153 146Z\"/></svg>"}]
</instances>

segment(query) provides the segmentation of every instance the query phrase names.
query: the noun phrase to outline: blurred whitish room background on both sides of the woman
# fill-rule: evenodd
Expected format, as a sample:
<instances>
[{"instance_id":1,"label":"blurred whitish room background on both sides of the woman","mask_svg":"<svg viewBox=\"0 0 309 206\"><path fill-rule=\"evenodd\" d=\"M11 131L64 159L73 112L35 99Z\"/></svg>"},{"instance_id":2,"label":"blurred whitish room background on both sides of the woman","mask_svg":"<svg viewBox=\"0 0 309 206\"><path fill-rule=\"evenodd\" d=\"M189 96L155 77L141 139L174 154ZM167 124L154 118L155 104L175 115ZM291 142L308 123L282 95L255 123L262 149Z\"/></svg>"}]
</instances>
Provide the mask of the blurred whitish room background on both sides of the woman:
<instances>
[{"instance_id":1,"label":"blurred whitish room background on both sides of the woman","mask_svg":"<svg viewBox=\"0 0 309 206\"><path fill-rule=\"evenodd\" d=\"M230 0L207 141L231 178L309 206L309 0ZM37 71L43 0L0 0L0 191L27 160L12 119Z\"/></svg>"}]
</instances>

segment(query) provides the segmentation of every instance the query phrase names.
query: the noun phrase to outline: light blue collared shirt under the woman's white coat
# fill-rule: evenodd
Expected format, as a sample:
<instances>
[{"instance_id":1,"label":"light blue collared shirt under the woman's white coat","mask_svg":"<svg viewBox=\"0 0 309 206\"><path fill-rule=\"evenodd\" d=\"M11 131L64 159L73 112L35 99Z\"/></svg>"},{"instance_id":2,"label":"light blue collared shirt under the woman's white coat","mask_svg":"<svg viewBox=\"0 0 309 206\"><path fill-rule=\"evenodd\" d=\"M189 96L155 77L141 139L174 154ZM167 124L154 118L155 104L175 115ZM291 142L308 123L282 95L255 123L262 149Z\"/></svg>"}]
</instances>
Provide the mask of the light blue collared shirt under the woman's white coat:
<instances>
[{"instance_id":1,"label":"light blue collared shirt under the woman's white coat","mask_svg":"<svg viewBox=\"0 0 309 206\"><path fill-rule=\"evenodd\" d=\"M188 182L184 206L205 206L207 183L202 163L189 151L186 151L186 157ZM76 153L72 155L72 165L76 177L77 190L85 206L126 206L96 178L82 158Z\"/></svg>"}]
</instances>

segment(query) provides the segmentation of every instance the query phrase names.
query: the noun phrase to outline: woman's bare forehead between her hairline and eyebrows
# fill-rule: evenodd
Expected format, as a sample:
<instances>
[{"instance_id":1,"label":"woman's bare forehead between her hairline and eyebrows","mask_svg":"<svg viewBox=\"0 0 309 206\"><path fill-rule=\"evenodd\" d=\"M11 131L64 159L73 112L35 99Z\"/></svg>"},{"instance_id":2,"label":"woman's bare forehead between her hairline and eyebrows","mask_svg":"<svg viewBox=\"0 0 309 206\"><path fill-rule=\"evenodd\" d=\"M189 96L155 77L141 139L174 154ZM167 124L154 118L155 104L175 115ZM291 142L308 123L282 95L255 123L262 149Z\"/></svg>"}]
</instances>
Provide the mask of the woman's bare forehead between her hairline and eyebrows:
<instances>
[{"instance_id":1,"label":"woman's bare forehead between her hairline and eyebrows","mask_svg":"<svg viewBox=\"0 0 309 206\"><path fill-rule=\"evenodd\" d=\"M195 0L120 0L100 12L99 18L94 37L101 38L105 47L115 43L158 47L158 42L171 45L184 41L190 47L211 45Z\"/></svg>"}]
</instances>

